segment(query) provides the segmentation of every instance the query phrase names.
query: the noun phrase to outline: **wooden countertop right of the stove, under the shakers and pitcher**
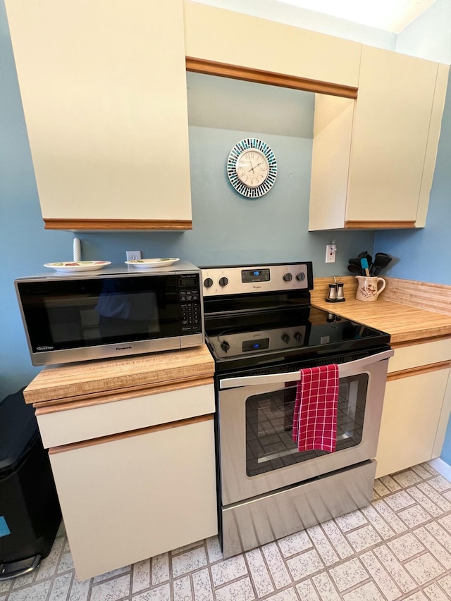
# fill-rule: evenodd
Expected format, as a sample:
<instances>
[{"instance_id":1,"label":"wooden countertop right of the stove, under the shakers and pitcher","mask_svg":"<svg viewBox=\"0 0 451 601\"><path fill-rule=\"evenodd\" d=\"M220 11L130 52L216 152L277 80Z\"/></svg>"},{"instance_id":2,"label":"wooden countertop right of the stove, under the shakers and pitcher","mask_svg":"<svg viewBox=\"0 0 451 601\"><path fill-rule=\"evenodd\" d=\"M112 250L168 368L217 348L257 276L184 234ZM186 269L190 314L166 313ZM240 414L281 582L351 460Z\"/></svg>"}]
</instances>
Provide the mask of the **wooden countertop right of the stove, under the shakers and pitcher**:
<instances>
[{"instance_id":1,"label":"wooden countertop right of the stove, under the shakers and pitcher","mask_svg":"<svg viewBox=\"0 0 451 601\"><path fill-rule=\"evenodd\" d=\"M355 291L350 294L345 291L346 300L340 303L328 303L319 295L312 295L311 302L330 313L388 332L392 345L451 336L451 315L417 309L381 297L376 302L362 302L353 298L354 295Z\"/></svg>"}]
</instances>

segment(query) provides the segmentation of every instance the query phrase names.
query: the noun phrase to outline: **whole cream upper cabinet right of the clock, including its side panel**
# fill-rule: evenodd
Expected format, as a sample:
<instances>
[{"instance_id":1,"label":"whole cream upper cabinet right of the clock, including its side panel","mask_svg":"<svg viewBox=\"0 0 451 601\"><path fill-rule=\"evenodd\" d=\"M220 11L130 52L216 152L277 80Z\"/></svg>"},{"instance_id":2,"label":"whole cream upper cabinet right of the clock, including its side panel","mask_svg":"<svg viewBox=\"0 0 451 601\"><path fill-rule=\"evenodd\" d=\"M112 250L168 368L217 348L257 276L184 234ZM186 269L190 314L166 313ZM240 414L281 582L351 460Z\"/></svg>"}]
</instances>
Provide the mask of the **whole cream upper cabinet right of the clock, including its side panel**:
<instances>
[{"instance_id":1,"label":"whole cream upper cabinet right of the clock, including its side panel","mask_svg":"<svg viewBox=\"0 0 451 601\"><path fill-rule=\"evenodd\" d=\"M357 100L316 103L309 230L424 227L448 70L362 47Z\"/></svg>"}]
</instances>

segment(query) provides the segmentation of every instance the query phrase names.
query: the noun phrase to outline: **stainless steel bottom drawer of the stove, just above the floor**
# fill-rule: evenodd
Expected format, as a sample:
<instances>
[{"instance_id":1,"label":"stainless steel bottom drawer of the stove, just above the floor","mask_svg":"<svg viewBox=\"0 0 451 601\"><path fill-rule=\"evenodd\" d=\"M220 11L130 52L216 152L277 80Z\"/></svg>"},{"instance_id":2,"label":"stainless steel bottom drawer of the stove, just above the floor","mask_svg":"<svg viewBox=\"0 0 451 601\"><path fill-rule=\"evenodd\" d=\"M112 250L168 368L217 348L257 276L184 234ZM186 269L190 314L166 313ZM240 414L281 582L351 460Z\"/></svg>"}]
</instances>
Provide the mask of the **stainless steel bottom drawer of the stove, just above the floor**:
<instances>
[{"instance_id":1,"label":"stainless steel bottom drawer of the stove, just above the floor","mask_svg":"<svg viewBox=\"0 0 451 601\"><path fill-rule=\"evenodd\" d=\"M223 507L223 556L266 545L371 502L376 461L328 473L288 490Z\"/></svg>"}]
</instances>

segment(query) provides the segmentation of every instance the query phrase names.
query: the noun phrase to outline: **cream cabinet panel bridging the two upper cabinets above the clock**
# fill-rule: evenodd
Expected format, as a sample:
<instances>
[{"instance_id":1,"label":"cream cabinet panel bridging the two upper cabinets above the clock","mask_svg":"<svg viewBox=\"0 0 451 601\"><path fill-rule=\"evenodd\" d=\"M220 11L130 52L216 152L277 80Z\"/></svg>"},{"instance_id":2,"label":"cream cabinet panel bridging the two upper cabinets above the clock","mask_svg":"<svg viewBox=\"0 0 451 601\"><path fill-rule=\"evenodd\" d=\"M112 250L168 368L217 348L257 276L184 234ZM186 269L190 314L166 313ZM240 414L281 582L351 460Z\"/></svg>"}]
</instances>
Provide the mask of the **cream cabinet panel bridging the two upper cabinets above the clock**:
<instances>
[{"instance_id":1,"label":"cream cabinet panel bridging the two upper cabinets above the clock","mask_svg":"<svg viewBox=\"0 0 451 601\"><path fill-rule=\"evenodd\" d=\"M312 82L357 86L361 48L362 44L340 37L185 0L189 57ZM249 71L241 75L252 78Z\"/></svg>"}]
</instances>

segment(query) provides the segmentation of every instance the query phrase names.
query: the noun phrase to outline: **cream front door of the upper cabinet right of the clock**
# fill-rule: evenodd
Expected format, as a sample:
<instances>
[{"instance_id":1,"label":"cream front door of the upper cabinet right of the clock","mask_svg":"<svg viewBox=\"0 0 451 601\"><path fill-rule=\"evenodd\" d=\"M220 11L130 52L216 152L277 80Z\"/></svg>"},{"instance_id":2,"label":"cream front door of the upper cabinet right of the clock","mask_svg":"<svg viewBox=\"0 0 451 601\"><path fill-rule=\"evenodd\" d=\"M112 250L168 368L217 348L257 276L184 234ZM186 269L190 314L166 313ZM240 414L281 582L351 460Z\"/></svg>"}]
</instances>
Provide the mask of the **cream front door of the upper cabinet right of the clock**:
<instances>
[{"instance_id":1,"label":"cream front door of the upper cabinet right of the clock","mask_svg":"<svg viewBox=\"0 0 451 601\"><path fill-rule=\"evenodd\" d=\"M414 227L437 73L438 63L362 47L346 227Z\"/></svg>"}]
</instances>

